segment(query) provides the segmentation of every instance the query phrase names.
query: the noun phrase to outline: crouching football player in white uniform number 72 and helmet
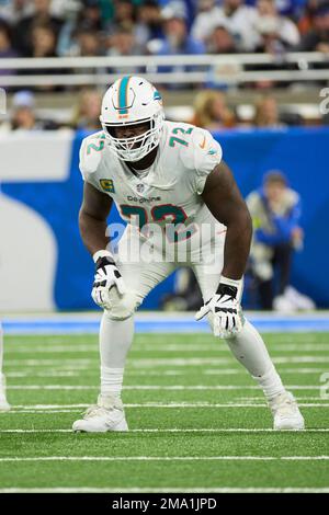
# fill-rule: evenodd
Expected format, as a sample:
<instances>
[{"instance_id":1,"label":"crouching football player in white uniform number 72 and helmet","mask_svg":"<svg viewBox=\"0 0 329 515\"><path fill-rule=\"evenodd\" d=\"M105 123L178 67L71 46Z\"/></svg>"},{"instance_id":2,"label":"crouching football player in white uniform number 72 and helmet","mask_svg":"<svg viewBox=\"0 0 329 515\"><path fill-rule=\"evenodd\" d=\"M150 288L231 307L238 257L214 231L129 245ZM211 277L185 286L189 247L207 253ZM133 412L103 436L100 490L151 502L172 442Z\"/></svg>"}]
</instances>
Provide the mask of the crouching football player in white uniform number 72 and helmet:
<instances>
[{"instance_id":1,"label":"crouching football player in white uniform number 72 and helmet","mask_svg":"<svg viewBox=\"0 0 329 515\"><path fill-rule=\"evenodd\" d=\"M204 306L196 319L208 318L215 336L226 341L262 388L274 428L303 430L294 397L242 314L252 226L219 144L207 130L164 121L160 93L139 77L111 85L100 119L103 130L87 137L80 150L79 226L95 264L92 298L104 309L101 388L97 404L73 423L73 431L127 431L121 391L134 312L178 264L191 266L198 281ZM113 202L127 221L115 253L106 232ZM184 263L178 259L181 249Z\"/></svg>"}]
</instances>

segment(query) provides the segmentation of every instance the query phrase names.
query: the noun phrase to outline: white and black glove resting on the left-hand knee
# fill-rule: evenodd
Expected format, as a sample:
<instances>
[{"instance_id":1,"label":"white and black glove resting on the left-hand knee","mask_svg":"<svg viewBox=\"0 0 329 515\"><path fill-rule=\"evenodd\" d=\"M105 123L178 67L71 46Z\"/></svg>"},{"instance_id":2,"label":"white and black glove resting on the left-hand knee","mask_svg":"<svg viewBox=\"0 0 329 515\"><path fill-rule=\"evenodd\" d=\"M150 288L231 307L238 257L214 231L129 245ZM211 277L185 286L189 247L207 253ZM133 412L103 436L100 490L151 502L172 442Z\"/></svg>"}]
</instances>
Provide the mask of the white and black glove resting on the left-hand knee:
<instances>
[{"instance_id":1,"label":"white and black glove resting on the left-hand knee","mask_svg":"<svg viewBox=\"0 0 329 515\"><path fill-rule=\"evenodd\" d=\"M126 287L118 272L113 255L106 250L93 254L95 262L95 275L91 296L93 301L103 309L111 309L113 300L110 299L110 290L115 287L120 295L124 295Z\"/></svg>"}]
</instances>

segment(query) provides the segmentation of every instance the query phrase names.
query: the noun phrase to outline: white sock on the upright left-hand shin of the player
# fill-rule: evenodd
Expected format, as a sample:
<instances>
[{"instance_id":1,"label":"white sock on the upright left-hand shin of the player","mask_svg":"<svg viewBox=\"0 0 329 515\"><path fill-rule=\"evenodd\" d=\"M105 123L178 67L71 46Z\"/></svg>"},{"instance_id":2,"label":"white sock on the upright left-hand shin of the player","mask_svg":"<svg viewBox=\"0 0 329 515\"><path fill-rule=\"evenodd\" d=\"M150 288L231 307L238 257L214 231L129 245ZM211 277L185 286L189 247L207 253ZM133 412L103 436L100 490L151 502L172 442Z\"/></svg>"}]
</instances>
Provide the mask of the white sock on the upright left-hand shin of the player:
<instances>
[{"instance_id":1,"label":"white sock on the upright left-hand shin of the player","mask_svg":"<svg viewBox=\"0 0 329 515\"><path fill-rule=\"evenodd\" d=\"M121 397L126 356L134 336L134 319L112 320L103 313L100 330L101 396Z\"/></svg>"}]
</instances>

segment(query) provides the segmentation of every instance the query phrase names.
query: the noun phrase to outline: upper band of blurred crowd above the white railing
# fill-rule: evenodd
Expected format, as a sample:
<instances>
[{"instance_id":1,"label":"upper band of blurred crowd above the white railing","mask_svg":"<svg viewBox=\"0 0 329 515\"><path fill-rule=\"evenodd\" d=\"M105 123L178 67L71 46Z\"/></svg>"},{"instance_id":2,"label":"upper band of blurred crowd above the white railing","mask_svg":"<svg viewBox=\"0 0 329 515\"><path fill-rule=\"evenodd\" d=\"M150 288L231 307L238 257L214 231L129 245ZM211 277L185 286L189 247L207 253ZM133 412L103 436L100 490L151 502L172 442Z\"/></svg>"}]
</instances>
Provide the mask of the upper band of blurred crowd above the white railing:
<instances>
[{"instance_id":1,"label":"upper band of blurred crowd above the white railing","mask_svg":"<svg viewBox=\"0 0 329 515\"><path fill-rule=\"evenodd\" d=\"M329 0L0 0L0 57L285 50L329 52Z\"/></svg>"}]
</instances>

